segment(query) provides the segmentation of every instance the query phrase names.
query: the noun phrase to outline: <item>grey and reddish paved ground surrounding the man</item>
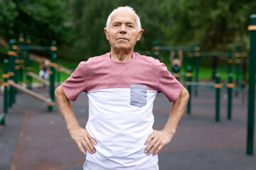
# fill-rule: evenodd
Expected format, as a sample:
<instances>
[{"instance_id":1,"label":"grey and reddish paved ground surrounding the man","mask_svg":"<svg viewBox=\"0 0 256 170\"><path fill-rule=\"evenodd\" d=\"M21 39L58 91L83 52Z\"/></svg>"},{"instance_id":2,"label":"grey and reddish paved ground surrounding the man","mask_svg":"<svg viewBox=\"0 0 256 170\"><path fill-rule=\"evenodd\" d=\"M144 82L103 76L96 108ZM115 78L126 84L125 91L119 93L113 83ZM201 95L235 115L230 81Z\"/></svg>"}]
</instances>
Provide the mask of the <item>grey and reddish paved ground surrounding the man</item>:
<instances>
[{"instance_id":1,"label":"grey and reddish paved ground surrounding the man","mask_svg":"<svg viewBox=\"0 0 256 170\"><path fill-rule=\"evenodd\" d=\"M46 89L36 91L48 95ZM160 170L255 170L256 156L245 154L247 101L241 96L234 97L233 120L226 120L227 100L222 94L219 123L214 121L214 93L192 96L191 115L184 115L174 139L159 154ZM0 108L2 100L0 96ZM85 126L87 96L80 95L73 108L78 122ZM170 108L171 103L159 94L154 102L155 129L164 127ZM0 150L1 170L76 170L82 169L85 159L71 140L57 107L49 113L46 105L25 94L18 94L6 115L6 126L0 128Z\"/></svg>"}]
</instances>

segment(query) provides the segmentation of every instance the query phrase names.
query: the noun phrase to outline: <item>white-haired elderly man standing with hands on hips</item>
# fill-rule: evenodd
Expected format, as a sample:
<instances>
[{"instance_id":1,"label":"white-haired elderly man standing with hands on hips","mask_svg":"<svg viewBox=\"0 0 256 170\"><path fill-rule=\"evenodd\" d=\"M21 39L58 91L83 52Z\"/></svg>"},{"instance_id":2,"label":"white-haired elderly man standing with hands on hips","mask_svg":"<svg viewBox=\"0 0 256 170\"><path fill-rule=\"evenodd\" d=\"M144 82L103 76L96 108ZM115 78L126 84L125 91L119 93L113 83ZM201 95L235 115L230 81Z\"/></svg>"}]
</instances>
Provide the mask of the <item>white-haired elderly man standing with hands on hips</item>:
<instances>
[{"instance_id":1,"label":"white-haired elderly man standing with hands on hips","mask_svg":"<svg viewBox=\"0 0 256 170\"><path fill-rule=\"evenodd\" d=\"M144 30L132 8L112 11L104 30L111 51L80 62L56 89L60 113L80 151L87 149L84 170L159 169L157 154L176 132L188 91L159 60L134 53ZM83 91L89 98L85 128L70 104ZM153 130L153 102L160 92L174 103L164 129Z\"/></svg>"}]
</instances>

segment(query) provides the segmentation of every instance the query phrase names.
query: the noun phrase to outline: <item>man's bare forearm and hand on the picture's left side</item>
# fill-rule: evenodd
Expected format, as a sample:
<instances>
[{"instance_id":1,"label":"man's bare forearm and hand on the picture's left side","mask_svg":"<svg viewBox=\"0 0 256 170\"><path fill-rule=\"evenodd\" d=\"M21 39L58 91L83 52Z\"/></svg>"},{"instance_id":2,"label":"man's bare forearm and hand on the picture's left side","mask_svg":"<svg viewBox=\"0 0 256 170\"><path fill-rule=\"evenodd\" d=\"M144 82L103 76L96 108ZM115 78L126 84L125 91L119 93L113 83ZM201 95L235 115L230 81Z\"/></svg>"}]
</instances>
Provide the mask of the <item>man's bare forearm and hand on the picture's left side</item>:
<instances>
[{"instance_id":1,"label":"man's bare forearm and hand on the picture's left side","mask_svg":"<svg viewBox=\"0 0 256 170\"><path fill-rule=\"evenodd\" d=\"M78 145L78 148L80 149L82 154L85 154L85 149L87 149L90 154L95 153L96 150L92 143L96 145L96 140L89 135L87 130L81 128L78 124L78 121L75 119L71 103L68 100L67 96L65 96L65 93L61 86L58 86L58 88L55 90L55 97L58 103L60 113L61 115L63 115L63 118L67 125L68 132L70 133L70 136L75 141L75 143ZM85 149L82 146L85 147Z\"/></svg>"}]
</instances>

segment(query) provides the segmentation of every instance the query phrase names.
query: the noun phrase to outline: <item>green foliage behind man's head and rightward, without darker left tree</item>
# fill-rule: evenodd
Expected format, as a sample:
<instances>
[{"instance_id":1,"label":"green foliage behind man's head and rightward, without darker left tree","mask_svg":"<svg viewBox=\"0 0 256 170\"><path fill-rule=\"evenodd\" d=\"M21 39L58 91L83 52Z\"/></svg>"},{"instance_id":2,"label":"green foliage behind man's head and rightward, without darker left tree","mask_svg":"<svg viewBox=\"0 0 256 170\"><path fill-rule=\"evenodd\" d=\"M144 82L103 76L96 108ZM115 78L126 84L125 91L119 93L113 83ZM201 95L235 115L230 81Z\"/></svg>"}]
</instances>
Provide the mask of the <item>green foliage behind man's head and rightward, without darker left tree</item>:
<instances>
[{"instance_id":1,"label":"green foliage behind man's head and rightward, without darker left tree","mask_svg":"<svg viewBox=\"0 0 256 170\"><path fill-rule=\"evenodd\" d=\"M117 6L132 6L141 18L144 34L137 50L151 50L152 42L159 40L160 45L171 46L200 41L202 50L226 51L230 43L236 42L248 48L247 26L256 1L74 0L71 8L79 34L75 51L93 56L109 50L103 28L108 14Z\"/></svg>"}]
</instances>

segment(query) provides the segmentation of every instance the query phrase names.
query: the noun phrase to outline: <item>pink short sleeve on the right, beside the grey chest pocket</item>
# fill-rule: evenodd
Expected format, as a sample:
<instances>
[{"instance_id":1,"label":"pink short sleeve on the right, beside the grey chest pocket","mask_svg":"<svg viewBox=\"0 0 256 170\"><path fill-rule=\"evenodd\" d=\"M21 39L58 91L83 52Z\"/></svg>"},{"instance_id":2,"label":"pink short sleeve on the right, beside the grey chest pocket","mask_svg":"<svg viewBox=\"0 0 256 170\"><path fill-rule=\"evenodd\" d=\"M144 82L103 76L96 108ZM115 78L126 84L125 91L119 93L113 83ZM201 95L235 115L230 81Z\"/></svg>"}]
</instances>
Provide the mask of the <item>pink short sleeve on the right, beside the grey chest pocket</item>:
<instances>
[{"instance_id":1,"label":"pink short sleeve on the right, beside the grey chest pocket","mask_svg":"<svg viewBox=\"0 0 256 170\"><path fill-rule=\"evenodd\" d=\"M165 94L170 102L176 101L183 86L178 80L171 75L165 64L161 63L159 72L159 92Z\"/></svg>"}]
</instances>

